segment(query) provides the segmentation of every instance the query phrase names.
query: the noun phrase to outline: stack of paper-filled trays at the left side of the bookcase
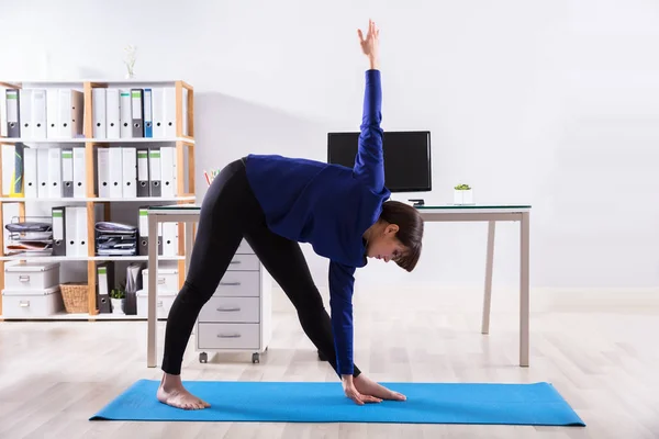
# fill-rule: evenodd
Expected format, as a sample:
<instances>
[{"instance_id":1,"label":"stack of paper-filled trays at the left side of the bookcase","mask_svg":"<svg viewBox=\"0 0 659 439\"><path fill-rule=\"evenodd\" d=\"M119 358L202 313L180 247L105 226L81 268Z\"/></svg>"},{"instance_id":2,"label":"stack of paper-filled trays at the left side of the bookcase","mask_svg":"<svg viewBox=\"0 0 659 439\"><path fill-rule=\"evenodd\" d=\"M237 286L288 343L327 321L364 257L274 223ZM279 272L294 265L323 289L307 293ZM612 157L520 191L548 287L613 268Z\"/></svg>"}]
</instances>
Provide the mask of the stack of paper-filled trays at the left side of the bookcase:
<instances>
[{"instance_id":1,"label":"stack of paper-filled trays at the left side of the bookcase","mask_svg":"<svg viewBox=\"0 0 659 439\"><path fill-rule=\"evenodd\" d=\"M51 256L53 254L53 225L42 222L10 223L7 243L8 256Z\"/></svg>"}]
</instances>

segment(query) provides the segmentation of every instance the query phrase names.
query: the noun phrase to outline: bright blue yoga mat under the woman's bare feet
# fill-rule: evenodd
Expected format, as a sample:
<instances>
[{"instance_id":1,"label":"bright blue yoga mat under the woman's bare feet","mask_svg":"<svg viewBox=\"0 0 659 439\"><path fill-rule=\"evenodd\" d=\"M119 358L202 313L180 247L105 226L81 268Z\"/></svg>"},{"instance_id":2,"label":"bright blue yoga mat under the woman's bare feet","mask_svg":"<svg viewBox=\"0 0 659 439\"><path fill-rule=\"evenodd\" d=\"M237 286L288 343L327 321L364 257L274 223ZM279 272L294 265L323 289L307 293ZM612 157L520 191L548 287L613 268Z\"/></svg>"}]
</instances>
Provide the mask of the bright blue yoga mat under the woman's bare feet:
<instances>
[{"instance_id":1,"label":"bright blue yoga mat under the woman's bare feet","mask_svg":"<svg viewBox=\"0 0 659 439\"><path fill-rule=\"evenodd\" d=\"M160 404L158 385L137 381L90 420L585 425L549 383L382 383L407 401L358 406L338 382L185 382L201 410Z\"/></svg>"}]
</instances>

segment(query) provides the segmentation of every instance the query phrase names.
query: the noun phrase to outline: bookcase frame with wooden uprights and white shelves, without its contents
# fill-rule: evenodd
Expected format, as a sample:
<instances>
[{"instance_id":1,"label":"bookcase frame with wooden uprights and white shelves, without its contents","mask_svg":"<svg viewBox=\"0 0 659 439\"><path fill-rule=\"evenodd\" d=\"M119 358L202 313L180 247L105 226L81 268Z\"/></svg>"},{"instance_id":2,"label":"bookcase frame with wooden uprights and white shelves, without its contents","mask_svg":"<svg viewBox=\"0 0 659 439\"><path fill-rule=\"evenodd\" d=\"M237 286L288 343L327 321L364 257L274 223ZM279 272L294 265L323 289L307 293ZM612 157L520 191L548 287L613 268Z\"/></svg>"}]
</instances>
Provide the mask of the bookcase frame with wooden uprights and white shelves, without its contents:
<instances>
[{"instance_id":1,"label":"bookcase frame with wooden uprights and white shelves, without its contents","mask_svg":"<svg viewBox=\"0 0 659 439\"><path fill-rule=\"evenodd\" d=\"M105 89L135 89L135 88L169 88L175 90L176 97L176 120L175 134L167 137L124 137L124 138L94 138L93 133L93 90L97 88ZM43 262L87 262L87 285L88 285L88 313L87 314L57 314L53 316L30 317L30 319L136 319L139 316L134 315L111 315L99 314L97 304L97 263L101 261L146 261L147 256L96 256L94 245L94 210L98 205L102 205L105 221L111 218L111 205L114 203L148 205L148 204L186 204L196 201L194 195L194 89L182 80L86 80L86 81L0 81L0 91L4 93L4 89L48 89L64 88L78 90L83 95L83 121L82 136L75 138L30 138L29 136L7 137L0 136L1 145L23 144L34 148L54 148L64 146L76 146L85 148L85 178L86 178L86 196L85 198L25 198L24 193L18 194L23 196L0 196L0 213L3 211L4 204L18 204L19 216L25 216L25 205L30 203L57 202L63 205L83 205L87 210L87 246L88 255L85 256L7 256L4 254L4 233L0 233L0 290L4 289L4 264L13 261L43 261ZM4 104L3 101L1 101ZM5 115L7 117L7 115ZM1 123L5 123L2 120ZM122 145L131 146L175 146L176 154L176 188L175 196L136 196L136 198L108 198L99 196L96 184L97 166L94 151L99 147L118 147ZM2 166L0 158L0 194L2 191ZM137 217L135 217L137 221ZM2 232L4 232L4 218L2 219ZM159 260L171 260L178 264L178 284L182 286L186 278L186 248L183 224L178 226L178 250L177 255L159 256ZM2 301L0 300L0 320L7 319L2 313Z\"/></svg>"}]
</instances>

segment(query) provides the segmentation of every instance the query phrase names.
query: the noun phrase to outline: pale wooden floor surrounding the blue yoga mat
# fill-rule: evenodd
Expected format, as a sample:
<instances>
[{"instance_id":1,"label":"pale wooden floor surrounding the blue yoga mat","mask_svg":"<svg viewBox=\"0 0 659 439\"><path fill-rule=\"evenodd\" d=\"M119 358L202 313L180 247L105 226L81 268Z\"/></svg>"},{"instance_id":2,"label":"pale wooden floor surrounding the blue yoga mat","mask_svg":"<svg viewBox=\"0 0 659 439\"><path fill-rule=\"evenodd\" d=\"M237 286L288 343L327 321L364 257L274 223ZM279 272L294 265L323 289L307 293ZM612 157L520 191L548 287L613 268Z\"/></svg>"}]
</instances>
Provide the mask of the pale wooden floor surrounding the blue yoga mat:
<instances>
[{"instance_id":1,"label":"pale wooden floor surrounding the blue yoga mat","mask_svg":"<svg viewBox=\"0 0 659 439\"><path fill-rule=\"evenodd\" d=\"M401 306L404 300L373 293L356 304L356 359L365 373L379 381L548 381L588 426L91 423L134 381L160 378L146 368L146 323L4 322L0 438L659 438L656 311L535 312L526 369L516 365L514 312L493 309L483 336L478 306L456 309L444 299L426 294ZM160 324L160 349L163 330ZM286 305L260 364L250 354L201 364L191 346L185 380L335 380Z\"/></svg>"}]
</instances>

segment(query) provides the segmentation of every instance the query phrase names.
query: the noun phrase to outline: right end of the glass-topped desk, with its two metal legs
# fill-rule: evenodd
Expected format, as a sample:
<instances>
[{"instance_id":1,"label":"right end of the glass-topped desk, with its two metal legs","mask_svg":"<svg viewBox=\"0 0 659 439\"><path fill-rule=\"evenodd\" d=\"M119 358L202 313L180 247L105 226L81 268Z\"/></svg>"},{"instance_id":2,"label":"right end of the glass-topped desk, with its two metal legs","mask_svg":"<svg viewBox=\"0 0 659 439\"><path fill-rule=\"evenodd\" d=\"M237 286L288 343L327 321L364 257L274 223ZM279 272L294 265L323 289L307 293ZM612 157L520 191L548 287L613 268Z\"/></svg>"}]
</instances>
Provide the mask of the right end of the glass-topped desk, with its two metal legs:
<instances>
[{"instance_id":1,"label":"right end of the glass-topped desk, with its two metal legs","mask_svg":"<svg viewBox=\"0 0 659 439\"><path fill-rule=\"evenodd\" d=\"M520 365L528 367L528 273L529 273L529 205L427 205L418 206L425 222L488 222L488 256L481 333L490 333L492 299L492 264L494 261L494 225L498 221L520 222ZM150 278L149 278L150 279Z\"/></svg>"}]
</instances>

